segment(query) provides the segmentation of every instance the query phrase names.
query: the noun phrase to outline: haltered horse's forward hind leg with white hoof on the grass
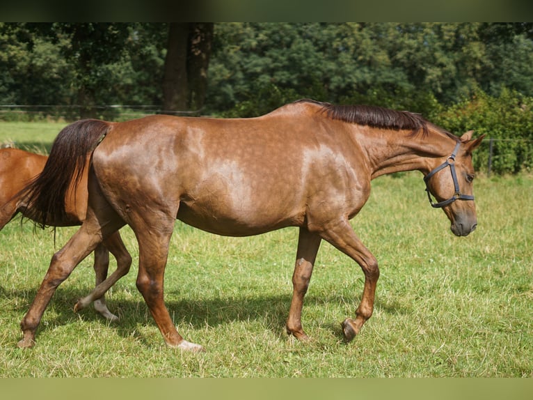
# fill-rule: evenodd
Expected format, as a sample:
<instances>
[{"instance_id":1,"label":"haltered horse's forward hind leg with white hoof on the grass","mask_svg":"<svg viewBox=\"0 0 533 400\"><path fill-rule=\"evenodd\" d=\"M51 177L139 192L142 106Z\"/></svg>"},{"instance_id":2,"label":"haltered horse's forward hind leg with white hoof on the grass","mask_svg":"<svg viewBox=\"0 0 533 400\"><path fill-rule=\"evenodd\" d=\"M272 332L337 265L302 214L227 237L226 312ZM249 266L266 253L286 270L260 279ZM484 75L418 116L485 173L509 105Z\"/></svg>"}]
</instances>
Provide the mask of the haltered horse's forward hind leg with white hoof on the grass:
<instances>
[{"instance_id":1,"label":"haltered horse's forward hind leg with white hoof on the grass","mask_svg":"<svg viewBox=\"0 0 533 400\"><path fill-rule=\"evenodd\" d=\"M138 220L147 219L148 215L143 215ZM137 289L143 295L146 305L148 305L150 313L168 346L187 351L202 351L202 346L186 341L177 332L164 303L164 270L174 221L170 218L165 221L158 215L157 224L154 226L150 229L146 226L145 229L141 230L132 226L137 236L139 249Z\"/></svg>"}]
</instances>

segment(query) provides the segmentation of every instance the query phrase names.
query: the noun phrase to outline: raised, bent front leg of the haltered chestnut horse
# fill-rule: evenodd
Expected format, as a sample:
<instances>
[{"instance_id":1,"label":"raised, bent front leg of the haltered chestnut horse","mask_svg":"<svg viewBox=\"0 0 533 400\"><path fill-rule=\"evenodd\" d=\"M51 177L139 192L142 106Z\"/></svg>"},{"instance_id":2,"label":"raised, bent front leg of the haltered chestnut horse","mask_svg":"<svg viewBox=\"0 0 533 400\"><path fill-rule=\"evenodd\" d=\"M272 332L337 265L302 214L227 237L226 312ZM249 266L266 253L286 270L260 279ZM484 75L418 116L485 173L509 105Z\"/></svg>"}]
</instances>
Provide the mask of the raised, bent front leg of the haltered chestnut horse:
<instances>
[{"instance_id":1,"label":"raised, bent front leg of the haltered chestnut horse","mask_svg":"<svg viewBox=\"0 0 533 400\"><path fill-rule=\"evenodd\" d=\"M339 224L331 224L331 226L321 232L321 236L356 261L365 274L363 297L356 310L356 318L347 318L342 323L344 338L347 341L351 341L374 311L374 295L379 278L378 262L376 257L369 252L356 236L356 233L353 232L348 220L344 220Z\"/></svg>"}]
</instances>

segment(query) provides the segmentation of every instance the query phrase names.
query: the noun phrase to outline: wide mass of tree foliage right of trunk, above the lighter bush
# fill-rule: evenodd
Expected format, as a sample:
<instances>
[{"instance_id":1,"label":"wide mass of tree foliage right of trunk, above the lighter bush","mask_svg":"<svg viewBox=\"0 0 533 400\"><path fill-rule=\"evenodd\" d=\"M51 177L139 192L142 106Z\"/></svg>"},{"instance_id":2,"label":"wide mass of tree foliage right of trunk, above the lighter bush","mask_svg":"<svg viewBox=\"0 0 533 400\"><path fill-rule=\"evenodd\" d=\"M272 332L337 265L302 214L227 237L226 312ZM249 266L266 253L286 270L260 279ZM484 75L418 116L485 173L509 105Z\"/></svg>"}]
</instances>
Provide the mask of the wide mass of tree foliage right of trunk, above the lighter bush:
<instances>
[{"instance_id":1,"label":"wide mass of tree foliage right of trunk, above the lighter bush","mask_svg":"<svg viewBox=\"0 0 533 400\"><path fill-rule=\"evenodd\" d=\"M533 24L221 23L207 107L253 116L301 97L431 116L481 87L533 95Z\"/></svg>"}]
</instances>

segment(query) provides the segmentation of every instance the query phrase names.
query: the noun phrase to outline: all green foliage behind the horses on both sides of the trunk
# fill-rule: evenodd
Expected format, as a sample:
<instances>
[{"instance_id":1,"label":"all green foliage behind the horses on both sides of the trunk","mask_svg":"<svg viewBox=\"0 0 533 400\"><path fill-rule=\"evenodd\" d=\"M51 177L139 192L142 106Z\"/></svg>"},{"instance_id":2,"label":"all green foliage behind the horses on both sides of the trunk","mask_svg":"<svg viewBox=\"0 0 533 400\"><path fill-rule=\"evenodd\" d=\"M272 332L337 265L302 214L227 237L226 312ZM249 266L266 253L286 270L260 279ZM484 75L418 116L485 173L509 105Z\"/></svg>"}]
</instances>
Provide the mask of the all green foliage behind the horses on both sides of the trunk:
<instances>
[{"instance_id":1,"label":"all green foliage behind the horses on both sides of the trunk","mask_svg":"<svg viewBox=\"0 0 533 400\"><path fill-rule=\"evenodd\" d=\"M66 120L87 108L120 118L111 105L158 112L168 43L161 23L1 23L0 106L54 106L30 115ZM533 23L216 23L210 48L202 114L299 98L408 109L498 139L494 172L531 169Z\"/></svg>"}]
</instances>

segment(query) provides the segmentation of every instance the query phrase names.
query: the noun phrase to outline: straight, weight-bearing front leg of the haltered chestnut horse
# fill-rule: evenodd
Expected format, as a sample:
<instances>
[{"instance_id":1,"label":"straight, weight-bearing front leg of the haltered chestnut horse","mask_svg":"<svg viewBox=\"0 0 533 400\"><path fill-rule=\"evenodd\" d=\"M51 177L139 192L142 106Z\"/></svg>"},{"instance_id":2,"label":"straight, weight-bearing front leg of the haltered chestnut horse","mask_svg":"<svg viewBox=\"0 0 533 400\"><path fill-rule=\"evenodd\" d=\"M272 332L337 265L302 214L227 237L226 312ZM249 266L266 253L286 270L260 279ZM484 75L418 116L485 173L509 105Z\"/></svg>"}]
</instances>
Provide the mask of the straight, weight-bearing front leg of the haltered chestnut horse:
<instances>
[{"instance_id":1,"label":"straight, weight-bearing front leg of the haltered chestnut horse","mask_svg":"<svg viewBox=\"0 0 533 400\"><path fill-rule=\"evenodd\" d=\"M310 233L310 231L303 227L300 228L296 265L292 274L292 302L286 325L287 333L293 334L296 339L300 340L309 339L308 335L303 332L301 312L303 297L308 290L320 242L321 238L316 233Z\"/></svg>"}]
</instances>

